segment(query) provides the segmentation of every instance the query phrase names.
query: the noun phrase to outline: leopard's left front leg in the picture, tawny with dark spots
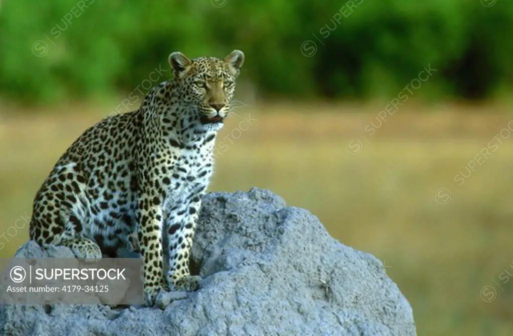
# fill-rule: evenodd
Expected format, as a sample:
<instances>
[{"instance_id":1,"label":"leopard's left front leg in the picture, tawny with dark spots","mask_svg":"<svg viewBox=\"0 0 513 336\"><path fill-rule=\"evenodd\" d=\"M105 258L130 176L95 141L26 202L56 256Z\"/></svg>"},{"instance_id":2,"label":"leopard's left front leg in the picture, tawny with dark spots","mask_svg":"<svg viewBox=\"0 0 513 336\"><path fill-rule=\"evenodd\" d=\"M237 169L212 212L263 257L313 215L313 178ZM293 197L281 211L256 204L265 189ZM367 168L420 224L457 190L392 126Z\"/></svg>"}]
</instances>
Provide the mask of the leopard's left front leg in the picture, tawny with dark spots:
<instances>
[{"instance_id":1,"label":"leopard's left front leg in the picture, tawny with dark spots","mask_svg":"<svg viewBox=\"0 0 513 336\"><path fill-rule=\"evenodd\" d=\"M145 304L152 306L164 281L161 197L146 193L137 206L137 235L144 260Z\"/></svg>"}]
</instances>

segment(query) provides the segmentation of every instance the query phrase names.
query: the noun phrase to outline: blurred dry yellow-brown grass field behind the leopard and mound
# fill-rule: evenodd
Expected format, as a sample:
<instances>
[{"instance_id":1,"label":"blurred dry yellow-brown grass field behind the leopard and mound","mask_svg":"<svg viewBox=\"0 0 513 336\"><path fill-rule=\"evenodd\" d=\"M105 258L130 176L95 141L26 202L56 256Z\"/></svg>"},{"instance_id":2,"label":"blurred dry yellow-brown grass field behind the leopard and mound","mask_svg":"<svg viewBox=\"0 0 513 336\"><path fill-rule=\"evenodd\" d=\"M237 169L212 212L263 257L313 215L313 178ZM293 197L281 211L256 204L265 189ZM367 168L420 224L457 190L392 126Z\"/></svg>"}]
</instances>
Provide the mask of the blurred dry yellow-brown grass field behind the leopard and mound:
<instances>
[{"instance_id":1,"label":"blurred dry yellow-brown grass field behind the leopard and mound","mask_svg":"<svg viewBox=\"0 0 513 336\"><path fill-rule=\"evenodd\" d=\"M412 103L380 126L384 105L240 108L210 190L270 189L385 261L420 335L511 334L513 110ZM23 218L54 162L111 109L0 116L0 257L26 241Z\"/></svg>"}]
</instances>

